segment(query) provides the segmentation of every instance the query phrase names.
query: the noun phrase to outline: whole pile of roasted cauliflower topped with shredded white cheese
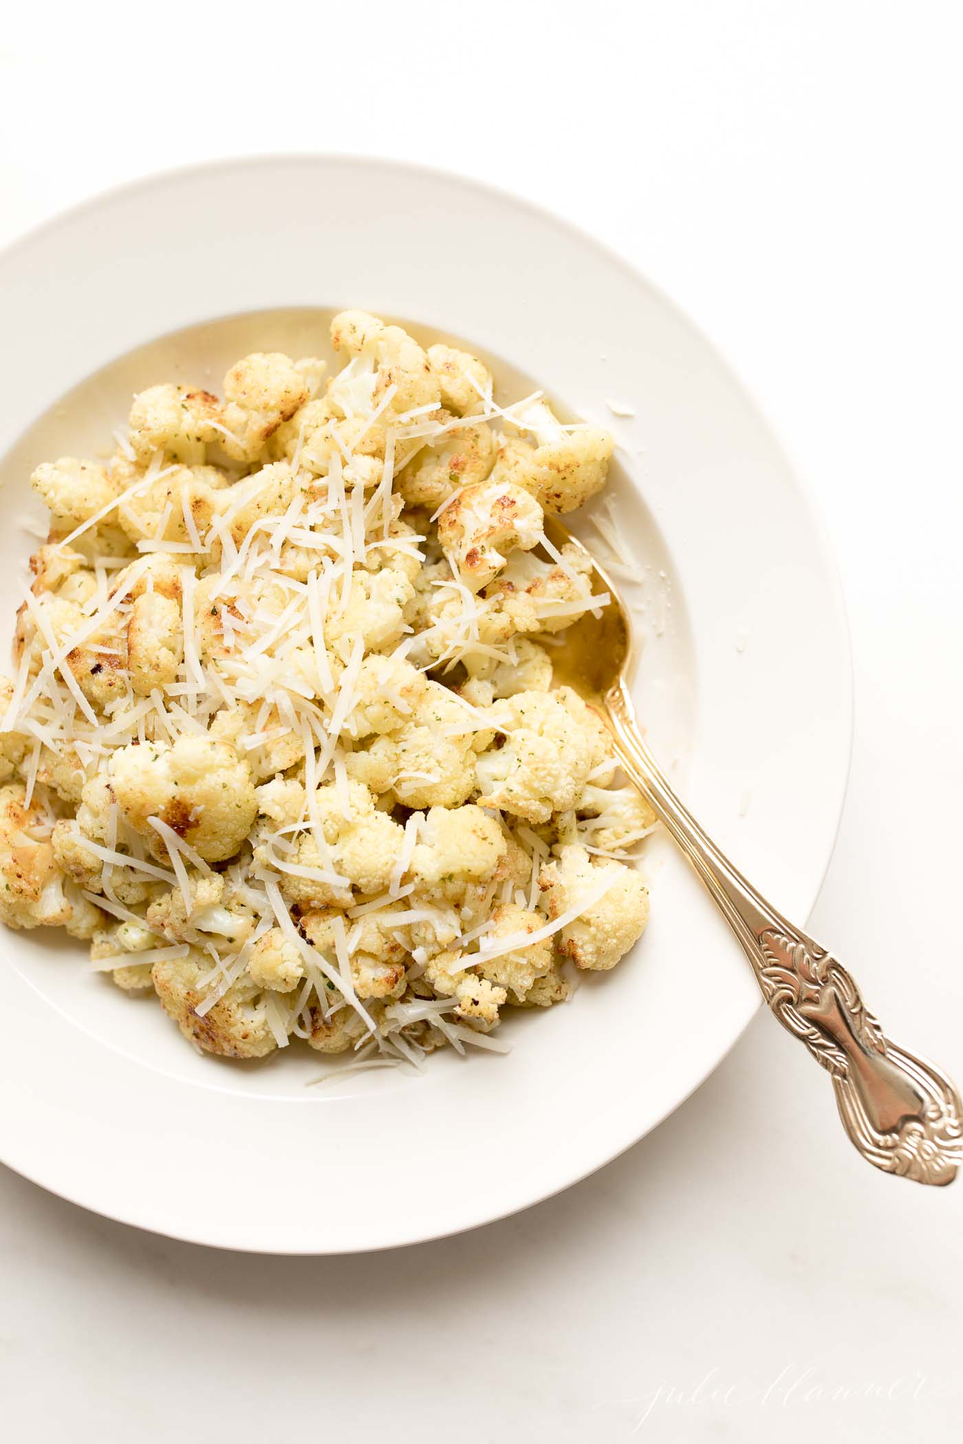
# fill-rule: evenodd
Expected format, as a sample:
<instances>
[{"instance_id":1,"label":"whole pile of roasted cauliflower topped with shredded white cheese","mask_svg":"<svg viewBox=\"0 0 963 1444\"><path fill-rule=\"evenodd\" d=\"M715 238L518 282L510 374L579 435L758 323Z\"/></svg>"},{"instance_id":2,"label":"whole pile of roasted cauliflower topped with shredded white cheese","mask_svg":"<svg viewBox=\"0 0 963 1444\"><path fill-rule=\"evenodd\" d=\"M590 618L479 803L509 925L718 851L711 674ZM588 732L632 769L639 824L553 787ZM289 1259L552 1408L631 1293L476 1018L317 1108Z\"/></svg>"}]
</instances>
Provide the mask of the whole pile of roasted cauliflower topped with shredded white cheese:
<instances>
[{"instance_id":1,"label":"whole pile of roasted cauliflower topped with shredded white cheese","mask_svg":"<svg viewBox=\"0 0 963 1444\"><path fill-rule=\"evenodd\" d=\"M654 814L556 666L605 598L544 533L612 438L365 310L318 339L144 375L113 453L32 472L0 918L222 1058L498 1050L647 918Z\"/></svg>"}]
</instances>

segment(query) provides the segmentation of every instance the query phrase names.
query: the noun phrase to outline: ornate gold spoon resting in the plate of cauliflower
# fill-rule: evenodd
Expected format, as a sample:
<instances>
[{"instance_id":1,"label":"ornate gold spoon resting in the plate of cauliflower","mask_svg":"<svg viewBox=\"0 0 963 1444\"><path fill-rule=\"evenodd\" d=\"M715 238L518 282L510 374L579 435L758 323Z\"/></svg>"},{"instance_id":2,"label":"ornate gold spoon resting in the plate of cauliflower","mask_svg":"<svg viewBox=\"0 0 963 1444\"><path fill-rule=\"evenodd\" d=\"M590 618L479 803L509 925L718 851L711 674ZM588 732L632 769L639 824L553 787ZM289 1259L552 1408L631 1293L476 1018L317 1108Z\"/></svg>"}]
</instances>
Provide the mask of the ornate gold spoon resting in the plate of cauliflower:
<instances>
[{"instance_id":1,"label":"ornate gold spoon resting in the plate of cauliflower","mask_svg":"<svg viewBox=\"0 0 963 1444\"><path fill-rule=\"evenodd\" d=\"M557 547L579 547L612 598L598 618L586 612L569 628L566 647L553 654L557 680L575 687L611 728L624 773L739 939L765 1002L832 1076L843 1126L863 1158L915 1183L951 1183L963 1134L956 1087L931 1063L885 1037L842 963L777 913L676 797L635 719L628 692L631 631L618 591L557 518L546 521L546 533Z\"/></svg>"}]
</instances>

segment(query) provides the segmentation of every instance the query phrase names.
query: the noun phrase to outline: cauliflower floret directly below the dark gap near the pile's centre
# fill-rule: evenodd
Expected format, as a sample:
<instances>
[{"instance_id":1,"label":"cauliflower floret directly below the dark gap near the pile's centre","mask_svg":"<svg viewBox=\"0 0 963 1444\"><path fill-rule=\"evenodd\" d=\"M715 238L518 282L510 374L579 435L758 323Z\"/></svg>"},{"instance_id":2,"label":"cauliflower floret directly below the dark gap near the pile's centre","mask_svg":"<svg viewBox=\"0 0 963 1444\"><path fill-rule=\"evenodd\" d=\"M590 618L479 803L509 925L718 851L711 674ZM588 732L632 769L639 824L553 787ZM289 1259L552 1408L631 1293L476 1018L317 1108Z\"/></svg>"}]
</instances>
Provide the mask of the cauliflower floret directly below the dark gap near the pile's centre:
<instances>
[{"instance_id":1,"label":"cauliflower floret directly below the dark gap near the pile's centre","mask_svg":"<svg viewBox=\"0 0 963 1444\"><path fill-rule=\"evenodd\" d=\"M351 752L348 775L375 793L393 790L404 807L458 807L476 786L474 738L463 728L462 703L448 687L427 682L416 716Z\"/></svg>"}]
</instances>

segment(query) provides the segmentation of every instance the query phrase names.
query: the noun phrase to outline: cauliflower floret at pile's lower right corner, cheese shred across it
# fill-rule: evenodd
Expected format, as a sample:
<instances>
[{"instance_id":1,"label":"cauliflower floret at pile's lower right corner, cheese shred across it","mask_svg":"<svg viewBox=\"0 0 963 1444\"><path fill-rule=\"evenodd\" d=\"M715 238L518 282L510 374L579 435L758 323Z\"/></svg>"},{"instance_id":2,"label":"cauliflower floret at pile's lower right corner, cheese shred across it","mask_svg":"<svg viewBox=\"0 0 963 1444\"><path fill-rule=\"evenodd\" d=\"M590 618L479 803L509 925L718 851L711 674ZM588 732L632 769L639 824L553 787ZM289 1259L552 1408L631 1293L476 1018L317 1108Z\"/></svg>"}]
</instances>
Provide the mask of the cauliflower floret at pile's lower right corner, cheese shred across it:
<instances>
[{"instance_id":1,"label":"cauliflower floret at pile's lower right corner, cheese shred across it","mask_svg":"<svg viewBox=\"0 0 963 1444\"><path fill-rule=\"evenodd\" d=\"M570 843L547 862L539 879L549 917L582 907L603 884L608 888L573 923L556 934L559 952L576 967L605 972L615 967L645 931L648 891L634 868L624 862L593 864L585 848Z\"/></svg>"}]
</instances>

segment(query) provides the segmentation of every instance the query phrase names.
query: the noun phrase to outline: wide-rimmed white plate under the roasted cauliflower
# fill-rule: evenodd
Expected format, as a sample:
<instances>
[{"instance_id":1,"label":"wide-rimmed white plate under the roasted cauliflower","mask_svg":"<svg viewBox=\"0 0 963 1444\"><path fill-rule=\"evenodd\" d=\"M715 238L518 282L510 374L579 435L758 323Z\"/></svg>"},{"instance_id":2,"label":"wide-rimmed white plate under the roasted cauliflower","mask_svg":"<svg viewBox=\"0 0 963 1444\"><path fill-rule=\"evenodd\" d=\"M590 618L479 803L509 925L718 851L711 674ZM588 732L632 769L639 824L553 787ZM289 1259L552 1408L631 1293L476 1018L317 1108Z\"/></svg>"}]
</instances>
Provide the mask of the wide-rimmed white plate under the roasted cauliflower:
<instances>
[{"instance_id":1,"label":"wide-rimmed white plate under the roasted cauliflower","mask_svg":"<svg viewBox=\"0 0 963 1444\"><path fill-rule=\"evenodd\" d=\"M318 156L101 196L0 257L0 297L3 618L29 550L30 468L103 439L136 387L185 375L217 388L245 348L323 344L322 316L283 308L365 306L463 336L502 358L500 380L534 378L608 417L622 443L614 491L650 567L650 736L722 846L807 917L849 760L836 573L738 381L624 261L482 186ZM269 313L198 329L254 310ZM635 416L612 417L606 399ZM637 952L570 1005L513 1021L507 1058L437 1056L424 1077L321 1090L305 1086L319 1066L306 1050L199 1058L156 1004L91 976L77 944L4 931L0 1157L127 1223L264 1252L409 1243L544 1199L654 1128L758 1005L684 864L661 843L645 866L653 918Z\"/></svg>"}]
</instances>

